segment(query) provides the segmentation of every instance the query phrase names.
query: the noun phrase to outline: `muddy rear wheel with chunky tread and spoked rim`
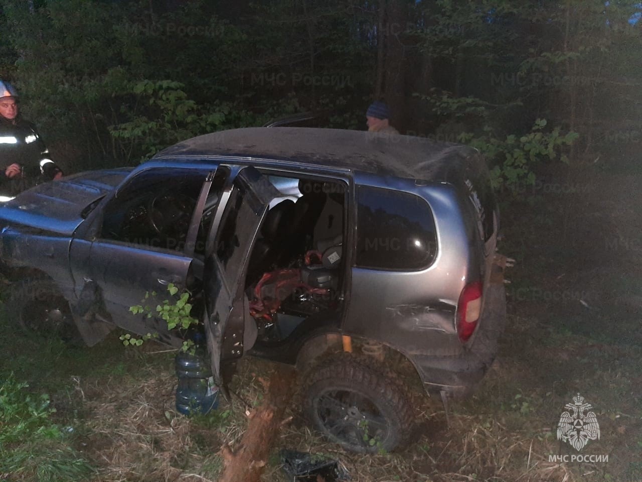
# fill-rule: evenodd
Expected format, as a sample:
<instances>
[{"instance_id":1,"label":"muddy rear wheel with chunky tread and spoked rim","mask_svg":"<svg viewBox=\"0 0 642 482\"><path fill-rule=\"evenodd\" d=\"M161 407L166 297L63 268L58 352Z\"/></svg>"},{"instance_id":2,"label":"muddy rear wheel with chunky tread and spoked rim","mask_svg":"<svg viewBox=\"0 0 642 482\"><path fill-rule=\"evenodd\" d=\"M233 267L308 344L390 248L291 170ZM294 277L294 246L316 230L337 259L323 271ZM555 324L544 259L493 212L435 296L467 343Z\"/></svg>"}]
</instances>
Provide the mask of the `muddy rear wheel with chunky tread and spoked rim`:
<instances>
[{"instance_id":1,"label":"muddy rear wheel with chunky tread and spoked rim","mask_svg":"<svg viewBox=\"0 0 642 482\"><path fill-rule=\"evenodd\" d=\"M308 371L303 409L332 442L353 452L393 451L413 425L403 383L374 359L341 353Z\"/></svg>"}]
</instances>

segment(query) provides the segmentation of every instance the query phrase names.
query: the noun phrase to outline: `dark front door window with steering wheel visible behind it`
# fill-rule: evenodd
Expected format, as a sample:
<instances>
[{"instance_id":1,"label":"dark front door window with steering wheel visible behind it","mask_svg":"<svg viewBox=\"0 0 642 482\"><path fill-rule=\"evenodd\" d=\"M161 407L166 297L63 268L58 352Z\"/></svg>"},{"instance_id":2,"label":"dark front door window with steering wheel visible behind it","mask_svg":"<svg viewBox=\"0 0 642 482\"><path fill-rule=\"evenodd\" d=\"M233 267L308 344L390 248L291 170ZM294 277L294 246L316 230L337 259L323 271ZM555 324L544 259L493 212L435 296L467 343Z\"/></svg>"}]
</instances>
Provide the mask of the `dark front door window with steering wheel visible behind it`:
<instances>
[{"instance_id":1,"label":"dark front door window with steering wheel visible behind it","mask_svg":"<svg viewBox=\"0 0 642 482\"><path fill-rule=\"evenodd\" d=\"M105 207L100 237L182 251L208 172L180 168L141 172Z\"/></svg>"}]
</instances>

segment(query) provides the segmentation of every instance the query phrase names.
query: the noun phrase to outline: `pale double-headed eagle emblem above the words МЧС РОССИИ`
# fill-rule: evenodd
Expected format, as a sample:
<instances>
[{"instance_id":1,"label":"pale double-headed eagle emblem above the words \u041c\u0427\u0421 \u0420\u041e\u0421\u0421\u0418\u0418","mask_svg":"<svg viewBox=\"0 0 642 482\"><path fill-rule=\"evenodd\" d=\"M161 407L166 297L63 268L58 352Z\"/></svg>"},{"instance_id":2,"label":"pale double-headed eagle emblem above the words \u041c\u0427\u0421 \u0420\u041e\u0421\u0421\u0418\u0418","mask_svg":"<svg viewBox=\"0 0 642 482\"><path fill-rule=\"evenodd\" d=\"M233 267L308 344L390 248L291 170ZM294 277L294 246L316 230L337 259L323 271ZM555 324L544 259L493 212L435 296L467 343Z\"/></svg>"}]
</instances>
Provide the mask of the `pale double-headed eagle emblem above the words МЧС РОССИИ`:
<instances>
[{"instance_id":1,"label":"pale double-headed eagle emblem above the words \u041c\u0427\u0421 \u0420\u041e\u0421\u0421\u0418\u0418","mask_svg":"<svg viewBox=\"0 0 642 482\"><path fill-rule=\"evenodd\" d=\"M579 393L573 397L572 404L566 404L568 411L562 412L560 422L557 424L557 440L568 442L578 452L586 446L589 440L600 440L600 425L594 412L587 412L593 408L584 402L584 397Z\"/></svg>"}]
</instances>

